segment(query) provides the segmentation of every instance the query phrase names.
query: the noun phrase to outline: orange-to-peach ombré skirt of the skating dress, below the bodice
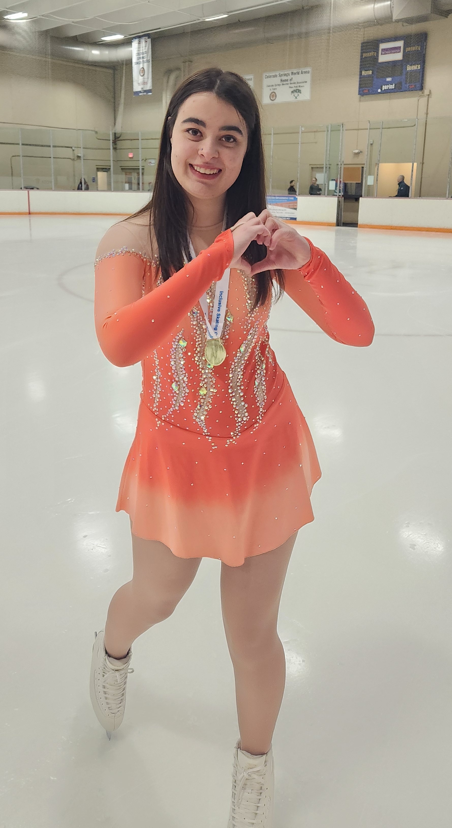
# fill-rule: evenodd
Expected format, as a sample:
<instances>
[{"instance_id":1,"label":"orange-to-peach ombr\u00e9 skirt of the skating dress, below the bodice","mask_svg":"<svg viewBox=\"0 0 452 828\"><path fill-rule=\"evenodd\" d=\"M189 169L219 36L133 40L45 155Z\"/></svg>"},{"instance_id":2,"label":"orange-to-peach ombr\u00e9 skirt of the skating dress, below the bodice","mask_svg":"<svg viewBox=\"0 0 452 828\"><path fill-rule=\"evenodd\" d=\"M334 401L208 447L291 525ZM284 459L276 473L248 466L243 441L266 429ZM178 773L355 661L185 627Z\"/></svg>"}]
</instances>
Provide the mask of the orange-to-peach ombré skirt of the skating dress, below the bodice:
<instances>
[{"instance_id":1,"label":"orange-to-peach ombr\u00e9 skirt of the skating dress, below the bodice","mask_svg":"<svg viewBox=\"0 0 452 828\"><path fill-rule=\"evenodd\" d=\"M215 443L212 450L205 436L159 421L141 402L116 511L130 515L134 535L178 557L241 566L312 522L321 469L285 376L256 431Z\"/></svg>"}]
</instances>

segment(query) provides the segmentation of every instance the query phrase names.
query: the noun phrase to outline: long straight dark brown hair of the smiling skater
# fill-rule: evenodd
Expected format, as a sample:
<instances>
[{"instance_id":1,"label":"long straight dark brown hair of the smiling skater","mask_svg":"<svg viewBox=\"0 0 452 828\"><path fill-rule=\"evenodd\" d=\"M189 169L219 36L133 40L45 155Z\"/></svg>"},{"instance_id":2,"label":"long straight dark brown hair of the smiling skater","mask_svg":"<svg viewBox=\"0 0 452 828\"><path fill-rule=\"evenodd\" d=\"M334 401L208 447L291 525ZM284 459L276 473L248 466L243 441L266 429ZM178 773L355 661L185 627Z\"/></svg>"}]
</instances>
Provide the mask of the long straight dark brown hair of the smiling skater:
<instances>
[{"instance_id":1,"label":"long straight dark brown hair of the smiling skater","mask_svg":"<svg viewBox=\"0 0 452 828\"><path fill-rule=\"evenodd\" d=\"M197 92L213 92L230 103L245 121L248 147L240 173L226 191L226 227L233 227L246 213L256 215L266 207L264 147L260 131L259 103L250 85L236 72L223 72L213 67L195 72L174 92L164 118L160 137L159 160L155 171L154 192L149 204L135 215L150 211L150 226L154 229L159 248L159 263L164 281L183 267L188 253L189 211L193 210L188 197L174 176L171 166L171 135L178 110L185 100ZM250 264L261 262L267 254L263 244L251 242L244 253ZM256 274L255 306L264 305L272 295L274 282L269 270ZM283 271L275 270L276 293L284 289Z\"/></svg>"}]
</instances>

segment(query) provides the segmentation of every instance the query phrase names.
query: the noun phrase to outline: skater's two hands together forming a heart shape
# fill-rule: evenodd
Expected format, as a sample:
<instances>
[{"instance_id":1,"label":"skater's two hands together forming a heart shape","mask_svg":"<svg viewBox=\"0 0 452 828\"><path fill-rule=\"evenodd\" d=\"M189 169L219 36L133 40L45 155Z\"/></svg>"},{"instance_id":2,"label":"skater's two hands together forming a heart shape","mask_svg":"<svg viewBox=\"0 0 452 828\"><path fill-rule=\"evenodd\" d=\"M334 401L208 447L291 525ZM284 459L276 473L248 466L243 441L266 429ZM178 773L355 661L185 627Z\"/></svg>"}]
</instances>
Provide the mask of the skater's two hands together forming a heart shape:
<instances>
[{"instance_id":1,"label":"skater's two hands together forming a heart shape","mask_svg":"<svg viewBox=\"0 0 452 828\"><path fill-rule=\"evenodd\" d=\"M297 270L311 258L306 238L295 228L275 219L268 209L258 216L246 214L231 229L234 238L231 267L239 267L251 276L264 270ZM265 245L267 255L262 262L250 265L243 258L243 253L253 240Z\"/></svg>"}]
</instances>

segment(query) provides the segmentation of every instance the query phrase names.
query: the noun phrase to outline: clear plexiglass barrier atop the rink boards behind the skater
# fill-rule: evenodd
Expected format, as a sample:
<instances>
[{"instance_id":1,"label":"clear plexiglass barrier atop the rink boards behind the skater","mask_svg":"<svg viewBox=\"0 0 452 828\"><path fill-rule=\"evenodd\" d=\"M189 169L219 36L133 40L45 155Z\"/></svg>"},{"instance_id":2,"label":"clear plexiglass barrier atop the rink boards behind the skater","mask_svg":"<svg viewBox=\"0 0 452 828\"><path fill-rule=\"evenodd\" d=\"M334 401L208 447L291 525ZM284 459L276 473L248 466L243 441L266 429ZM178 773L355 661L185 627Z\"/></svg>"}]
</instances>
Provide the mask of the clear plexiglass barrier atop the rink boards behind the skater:
<instances>
[{"instance_id":1,"label":"clear plexiglass barrier atop the rink boards behind the skater","mask_svg":"<svg viewBox=\"0 0 452 828\"><path fill-rule=\"evenodd\" d=\"M0 189L147 192L158 152L157 131L0 128ZM270 195L452 195L452 117L274 127L264 153Z\"/></svg>"}]
</instances>

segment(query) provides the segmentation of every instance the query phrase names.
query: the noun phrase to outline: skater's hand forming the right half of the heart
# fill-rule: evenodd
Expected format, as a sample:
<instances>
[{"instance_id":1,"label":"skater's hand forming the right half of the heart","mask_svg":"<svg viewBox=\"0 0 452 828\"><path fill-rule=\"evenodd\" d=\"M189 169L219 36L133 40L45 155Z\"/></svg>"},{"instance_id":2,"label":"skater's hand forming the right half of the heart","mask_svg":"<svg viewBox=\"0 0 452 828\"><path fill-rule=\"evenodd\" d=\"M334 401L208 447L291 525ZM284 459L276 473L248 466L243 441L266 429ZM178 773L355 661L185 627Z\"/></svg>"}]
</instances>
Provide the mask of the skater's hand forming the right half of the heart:
<instances>
[{"instance_id":1,"label":"skater's hand forming the right half of the heart","mask_svg":"<svg viewBox=\"0 0 452 828\"><path fill-rule=\"evenodd\" d=\"M264 209L258 219L272 236L266 243L266 257L251 266L251 276L263 270L297 270L309 262L311 248L295 228L275 219L268 209Z\"/></svg>"}]
</instances>

